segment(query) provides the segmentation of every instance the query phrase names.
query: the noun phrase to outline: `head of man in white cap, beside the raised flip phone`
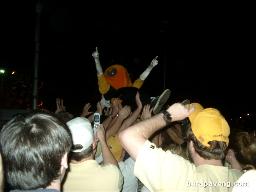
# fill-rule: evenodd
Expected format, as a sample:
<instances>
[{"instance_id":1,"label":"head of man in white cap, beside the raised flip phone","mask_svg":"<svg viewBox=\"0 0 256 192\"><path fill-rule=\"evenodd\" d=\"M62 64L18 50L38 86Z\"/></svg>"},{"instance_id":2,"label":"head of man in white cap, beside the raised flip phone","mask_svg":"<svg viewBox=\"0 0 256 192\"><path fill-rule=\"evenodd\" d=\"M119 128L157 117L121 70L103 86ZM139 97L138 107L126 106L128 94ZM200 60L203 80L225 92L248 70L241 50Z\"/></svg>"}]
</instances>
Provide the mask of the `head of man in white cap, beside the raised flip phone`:
<instances>
[{"instance_id":1,"label":"head of man in white cap, beside the raised flip phone","mask_svg":"<svg viewBox=\"0 0 256 192\"><path fill-rule=\"evenodd\" d=\"M76 117L67 122L72 134L73 145L70 152L72 160L81 161L93 152L94 133L91 122L85 117Z\"/></svg>"}]
</instances>

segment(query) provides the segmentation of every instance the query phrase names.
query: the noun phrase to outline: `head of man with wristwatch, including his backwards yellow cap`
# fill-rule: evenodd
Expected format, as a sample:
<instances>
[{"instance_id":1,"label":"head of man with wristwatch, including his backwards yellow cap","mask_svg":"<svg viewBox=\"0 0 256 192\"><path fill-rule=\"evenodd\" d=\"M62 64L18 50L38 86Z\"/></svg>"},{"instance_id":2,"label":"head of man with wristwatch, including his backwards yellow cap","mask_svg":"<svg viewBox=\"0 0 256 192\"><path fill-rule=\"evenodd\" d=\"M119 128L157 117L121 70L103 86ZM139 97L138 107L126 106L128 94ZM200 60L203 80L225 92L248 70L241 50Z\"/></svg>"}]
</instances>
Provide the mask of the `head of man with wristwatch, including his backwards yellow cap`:
<instances>
[{"instance_id":1,"label":"head of man with wristwatch, including his backwards yellow cap","mask_svg":"<svg viewBox=\"0 0 256 192\"><path fill-rule=\"evenodd\" d=\"M229 144L230 127L215 108L198 110L189 116L187 138L193 142L195 151L204 159L223 159ZM197 108L197 107L196 107ZM190 142L189 142L190 143ZM189 151L190 152L190 151Z\"/></svg>"}]
</instances>

